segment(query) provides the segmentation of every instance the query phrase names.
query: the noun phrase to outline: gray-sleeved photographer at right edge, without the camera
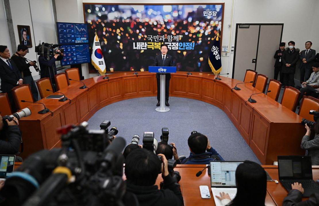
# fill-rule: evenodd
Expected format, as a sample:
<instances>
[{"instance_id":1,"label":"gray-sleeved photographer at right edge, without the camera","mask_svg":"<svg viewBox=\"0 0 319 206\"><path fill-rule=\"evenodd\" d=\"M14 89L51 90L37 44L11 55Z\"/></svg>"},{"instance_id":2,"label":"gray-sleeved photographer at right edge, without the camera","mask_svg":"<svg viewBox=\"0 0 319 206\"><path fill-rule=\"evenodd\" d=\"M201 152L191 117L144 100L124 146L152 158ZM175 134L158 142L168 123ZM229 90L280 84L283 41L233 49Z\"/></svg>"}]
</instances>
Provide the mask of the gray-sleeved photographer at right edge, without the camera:
<instances>
[{"instance_id":1,"label":"gray-sleeved photographer at right edge, without the camera","mask_svg":"<svg viewBox=\"0 0 319 206\"><path fill-rule=\"evenodd\" d=\"M319 123L318 120L315 123L314 130L315 130L315 137L314 139L310 140L310 133L311 130L307 124L305 124L305 128L307 132L305 136L302 137L300 147L301 149L308 150L308 154L311 156L311 163L312 165L319 165Z\"/></svg>"}]
</instances>

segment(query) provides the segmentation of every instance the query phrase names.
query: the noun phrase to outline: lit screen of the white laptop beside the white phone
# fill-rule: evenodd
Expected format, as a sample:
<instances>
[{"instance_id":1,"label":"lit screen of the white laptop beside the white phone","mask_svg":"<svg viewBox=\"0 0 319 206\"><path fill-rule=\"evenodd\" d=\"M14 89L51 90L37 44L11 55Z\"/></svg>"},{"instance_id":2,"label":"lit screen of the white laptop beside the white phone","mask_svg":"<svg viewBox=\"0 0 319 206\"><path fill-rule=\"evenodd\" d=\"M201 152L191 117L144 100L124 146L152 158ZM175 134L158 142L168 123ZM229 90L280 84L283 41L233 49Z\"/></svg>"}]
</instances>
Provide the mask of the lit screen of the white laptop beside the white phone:
<instances>
[{"instance_id":1,"label":"lit screen of the white laptop beside the white phone","mask_svg":"<svg viewBox=\"0 0 319 206\"><path fill-rule=\"evenodd\" d=\"M211 161L211 187L235 188L235 172L239 164L235 161Z\"/></svg>"}]
</instances>

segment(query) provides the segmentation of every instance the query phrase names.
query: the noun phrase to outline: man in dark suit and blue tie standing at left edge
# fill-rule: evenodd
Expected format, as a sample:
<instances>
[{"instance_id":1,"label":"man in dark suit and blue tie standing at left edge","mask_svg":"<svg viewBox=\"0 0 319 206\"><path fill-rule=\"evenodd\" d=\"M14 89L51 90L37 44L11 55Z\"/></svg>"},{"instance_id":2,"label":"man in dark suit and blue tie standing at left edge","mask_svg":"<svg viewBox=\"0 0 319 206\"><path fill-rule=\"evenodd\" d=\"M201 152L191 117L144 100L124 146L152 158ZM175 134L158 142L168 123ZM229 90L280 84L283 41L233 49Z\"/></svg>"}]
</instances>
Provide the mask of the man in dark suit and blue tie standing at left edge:
<instances>
[{"instance_id":1,"label":"man in dark suit and blue tie standing at left edge","mask_svg":"<svg viewBox=\"0 0 319 206\"><path fill-rule=\"evenodd\" d=\"M8 93L12 112L16 112L17 108L11 93L13 87L22 85L23 80L21 73L16 64L9 60L10 51L7 46L0 45L0 79L2 92Z\"/></svg>"}]
</instances>

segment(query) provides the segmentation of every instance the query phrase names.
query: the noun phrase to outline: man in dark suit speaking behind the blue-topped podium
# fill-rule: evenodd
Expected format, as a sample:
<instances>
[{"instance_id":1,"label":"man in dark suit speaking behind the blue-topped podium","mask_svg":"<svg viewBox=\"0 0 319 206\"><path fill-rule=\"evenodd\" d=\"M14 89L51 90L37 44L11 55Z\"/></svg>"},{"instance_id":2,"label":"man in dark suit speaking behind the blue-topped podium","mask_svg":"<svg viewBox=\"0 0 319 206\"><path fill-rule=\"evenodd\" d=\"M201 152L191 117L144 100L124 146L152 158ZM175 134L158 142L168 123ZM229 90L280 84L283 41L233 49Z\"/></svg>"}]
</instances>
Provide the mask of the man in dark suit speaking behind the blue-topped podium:
<instances>
[{"instance_id":1,"label":"man in dark suit speaking behind the blue-topped podium","mask_svg":"<svg viewBox=\"0 0 319 206\"><path fill-rule=\"evenodd\" d=\"M166 44L162 44L160 46L161 54L155 56L154 66L164 66L164 67L173 67L173 57L167 54L168 47ZM157 80L157 107L159 107L160 103L160 74L156 74ZM171 74L165 74L165 105L169 107L168 104L168 95L169 95L169 81L171 79Z\"/></svg>"}]
</instances>

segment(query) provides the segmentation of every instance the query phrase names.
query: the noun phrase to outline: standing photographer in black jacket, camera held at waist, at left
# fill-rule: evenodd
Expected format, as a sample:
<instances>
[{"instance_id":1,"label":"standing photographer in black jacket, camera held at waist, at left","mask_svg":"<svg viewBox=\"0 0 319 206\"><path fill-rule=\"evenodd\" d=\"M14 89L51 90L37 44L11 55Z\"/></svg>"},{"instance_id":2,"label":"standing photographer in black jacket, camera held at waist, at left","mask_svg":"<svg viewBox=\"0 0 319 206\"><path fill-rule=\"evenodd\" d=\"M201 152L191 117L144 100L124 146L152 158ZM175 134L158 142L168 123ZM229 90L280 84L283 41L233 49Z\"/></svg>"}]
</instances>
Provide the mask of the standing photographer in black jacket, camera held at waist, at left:
<instances>
[{"instance_id":1,"label":"standing photographer in black jacket, camera held at waist, at left","mask_svg":"<svg viewBox=\"0 0 319 206\"><path fill-rule=\"evenodd\" d=\"M21 76L24 84L29 84L33 96L33 100L38 101L38 90L35 86L33 77L31 75L31 71L29 69L30 66L34 66L35 63L29 62L26 63L26 58L24 56L28 52L28 47L23 44L18 45L17 52L11 56L11 60L17 65L18 69L21 72Z\"/></svg>"}]
</instances>

